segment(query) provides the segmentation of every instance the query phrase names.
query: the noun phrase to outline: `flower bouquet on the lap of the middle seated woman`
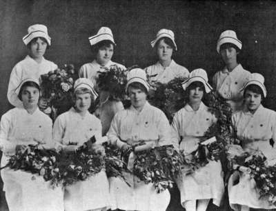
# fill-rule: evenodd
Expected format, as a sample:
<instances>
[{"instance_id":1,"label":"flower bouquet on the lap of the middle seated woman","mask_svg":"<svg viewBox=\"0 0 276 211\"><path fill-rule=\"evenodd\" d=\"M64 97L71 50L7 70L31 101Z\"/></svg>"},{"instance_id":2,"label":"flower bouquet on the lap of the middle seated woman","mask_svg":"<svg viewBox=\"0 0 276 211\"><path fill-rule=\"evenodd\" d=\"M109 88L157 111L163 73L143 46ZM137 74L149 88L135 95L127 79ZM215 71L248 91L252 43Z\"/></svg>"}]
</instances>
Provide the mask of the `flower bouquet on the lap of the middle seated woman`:
<instances>
[{"instance_id":1,"label":"flower bouquet on the lap of the middle seated woman","mask_svg":"<svg viewBox=\"0 0 276 211\"><path fill-rule=\"evenodd\" d=\"M133 174L144 183L154 183L157 192L172 188L181 171L181 156L172 145L135 153Z\"/></svg>"}]
</instances>

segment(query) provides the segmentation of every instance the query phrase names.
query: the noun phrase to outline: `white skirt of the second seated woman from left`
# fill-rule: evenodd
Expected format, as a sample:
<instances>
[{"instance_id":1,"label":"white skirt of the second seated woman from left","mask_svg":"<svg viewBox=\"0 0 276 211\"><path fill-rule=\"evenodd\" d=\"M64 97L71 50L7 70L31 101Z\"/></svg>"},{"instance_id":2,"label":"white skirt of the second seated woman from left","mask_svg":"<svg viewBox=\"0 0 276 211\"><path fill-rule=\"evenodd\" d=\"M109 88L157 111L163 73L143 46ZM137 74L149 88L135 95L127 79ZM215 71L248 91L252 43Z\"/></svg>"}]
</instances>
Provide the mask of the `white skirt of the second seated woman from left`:
<instances>
[{"instance_id":1,"label":"white skirt of the second seated woman from left","mask_svg":"<svg viewBox=\"0 0 276 211\"><path fill-rule=\"evenodd\" d=\"M66 211L95 210L109 207L109 185L106 172L89 177L86 181L78 181L68 185L64 192Z\"/></svg>"}]
</instances>

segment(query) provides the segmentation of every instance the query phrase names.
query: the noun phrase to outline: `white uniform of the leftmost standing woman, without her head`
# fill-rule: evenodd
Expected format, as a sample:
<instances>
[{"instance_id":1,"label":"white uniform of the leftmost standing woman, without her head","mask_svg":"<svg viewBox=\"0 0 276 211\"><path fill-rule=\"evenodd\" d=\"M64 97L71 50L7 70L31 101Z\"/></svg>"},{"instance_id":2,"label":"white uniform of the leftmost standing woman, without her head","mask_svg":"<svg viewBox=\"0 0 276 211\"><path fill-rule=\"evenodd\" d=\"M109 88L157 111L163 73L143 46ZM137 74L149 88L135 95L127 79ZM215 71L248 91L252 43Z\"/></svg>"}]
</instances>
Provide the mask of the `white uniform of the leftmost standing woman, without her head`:
<instances>
[{"instance_id":1,"label":"white uniform of the leftmost standing woman, without her head","mask_svg":"<svg viewBox=\"0 0 276 211\"><path fill-rule=\"evenodd\" d=\"M12 106L23 108L22 102L18 99L17 93L14 92L19 87L21 81L26 78L39 79L41 74L46 74L51 70L56 70L57 65L52 61L42 59L41 63L37 63L30 56L19 61L10 73L10 82L8 84L8 101Z\"/></svg>"}]
</instances>

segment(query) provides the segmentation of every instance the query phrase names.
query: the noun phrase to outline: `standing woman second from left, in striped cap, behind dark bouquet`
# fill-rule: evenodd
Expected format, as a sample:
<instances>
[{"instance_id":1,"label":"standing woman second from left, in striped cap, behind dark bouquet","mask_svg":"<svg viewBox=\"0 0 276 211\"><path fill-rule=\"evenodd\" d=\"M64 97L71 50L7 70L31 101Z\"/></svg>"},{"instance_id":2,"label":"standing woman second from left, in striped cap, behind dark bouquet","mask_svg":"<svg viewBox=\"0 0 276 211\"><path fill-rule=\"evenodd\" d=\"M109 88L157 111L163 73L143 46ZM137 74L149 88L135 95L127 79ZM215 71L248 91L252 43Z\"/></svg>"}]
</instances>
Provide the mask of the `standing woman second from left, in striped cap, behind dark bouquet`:
<instances>
[{"instance_id":1,"label":"standing woman second from left, in striped cap, behind dark bouquet","mask_svg":"<svg viewBox=\"0 0 276 211\"><path fill-rule=\"evenodd\" d=\"M99 77L99 72L106 72L106 69L113 65L118 66L121 70L125 70L126 67L111 61L116 44L110 28L101 27L96 35L89 37L89 41L92 54L95 58L92 62L81 66L79 77L90 79L92 83L95 84L95 89L98 90L97 79ZM108 92L99 93L100 106L96 112L97 116L99 115L99 119L101 119L103 135L108 132L112 118L117 111L124 109L121 101L110 101L108 97Z\"/></svg>"}]
</instances>

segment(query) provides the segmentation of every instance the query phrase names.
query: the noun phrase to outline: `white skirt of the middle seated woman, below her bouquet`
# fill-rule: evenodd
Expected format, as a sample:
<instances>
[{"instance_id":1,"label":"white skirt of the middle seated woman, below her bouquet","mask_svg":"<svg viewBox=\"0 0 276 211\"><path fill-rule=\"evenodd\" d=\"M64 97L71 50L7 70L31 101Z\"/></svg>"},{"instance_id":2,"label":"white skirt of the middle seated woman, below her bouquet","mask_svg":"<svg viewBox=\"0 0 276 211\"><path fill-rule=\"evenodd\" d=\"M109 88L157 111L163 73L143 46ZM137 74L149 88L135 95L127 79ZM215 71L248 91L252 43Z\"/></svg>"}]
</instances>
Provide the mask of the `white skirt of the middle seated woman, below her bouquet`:
<instances>
[{"instance_id":1,"label":"white skirt of the middle seated woman, below her bouquet","mask_svg":"<svg viewBox=\"0 0 276 211\"><path fill-rule=\"evenodd\" d=\"M124 175L131 187L119 177L109 179L111 210L166 211L170 203L168 190L157 193L153 183L145 184L131 174Z\"/></svg>"}]
</instances>

